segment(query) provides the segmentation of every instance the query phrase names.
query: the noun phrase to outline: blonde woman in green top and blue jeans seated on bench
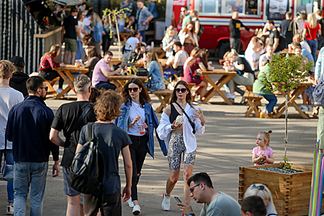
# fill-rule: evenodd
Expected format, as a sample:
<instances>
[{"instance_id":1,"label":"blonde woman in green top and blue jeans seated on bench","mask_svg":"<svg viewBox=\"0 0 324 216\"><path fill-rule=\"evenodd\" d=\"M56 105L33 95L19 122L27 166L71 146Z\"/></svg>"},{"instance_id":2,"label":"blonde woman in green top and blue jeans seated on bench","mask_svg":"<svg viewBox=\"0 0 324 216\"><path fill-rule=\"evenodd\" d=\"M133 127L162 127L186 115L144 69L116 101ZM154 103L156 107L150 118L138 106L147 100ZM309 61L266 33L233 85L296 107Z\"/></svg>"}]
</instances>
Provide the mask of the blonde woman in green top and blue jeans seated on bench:
<instances>
[{"instance_id":1,"label":"blonde woman in green top and blue jeans seated on bench","mask_svg":"<svg viewBox=\"0 0 324 216\"><path fill-rule=\"evenodd\" d=\"M254 81L253 84L253 92L255 95L263 96L267 101L269 101L269 104L267 104L267 107L260 112L260 118L265 119L272 119L272 111L274 110L274 106L276 105L276 96L270 91L265 88L265 84L261 80L265 79L265 75L270 75L270 66L266 64L262 70L260 70L258 74L258 79Z\"/></svg>"}]
</instances>

